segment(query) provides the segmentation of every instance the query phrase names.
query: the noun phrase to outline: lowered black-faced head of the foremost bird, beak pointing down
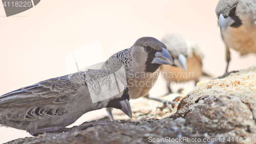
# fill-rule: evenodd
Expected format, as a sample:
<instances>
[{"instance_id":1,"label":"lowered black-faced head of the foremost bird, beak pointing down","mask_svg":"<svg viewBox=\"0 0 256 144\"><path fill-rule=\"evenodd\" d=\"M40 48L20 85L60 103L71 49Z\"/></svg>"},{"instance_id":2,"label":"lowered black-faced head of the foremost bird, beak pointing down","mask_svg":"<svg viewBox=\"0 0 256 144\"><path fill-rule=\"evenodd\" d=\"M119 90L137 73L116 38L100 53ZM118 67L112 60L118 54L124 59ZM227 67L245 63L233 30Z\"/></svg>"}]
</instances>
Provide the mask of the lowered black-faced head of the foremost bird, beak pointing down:
<instances>
[{"instance_id":1,"label":"lowered black-faced head of the foremost bird, beak pointing down","mask_svg":"<svg viewBox=\"0 0 256 144\"><path fill-rule=\"evenodd\" d=\"M117 108L123 111L126 115L132 118L132 110L130 105L130 91L129 88L126 87L121 94L115 95L113 99L111 99L106 105L106 107Z\"/></svg>"}]
</instances>

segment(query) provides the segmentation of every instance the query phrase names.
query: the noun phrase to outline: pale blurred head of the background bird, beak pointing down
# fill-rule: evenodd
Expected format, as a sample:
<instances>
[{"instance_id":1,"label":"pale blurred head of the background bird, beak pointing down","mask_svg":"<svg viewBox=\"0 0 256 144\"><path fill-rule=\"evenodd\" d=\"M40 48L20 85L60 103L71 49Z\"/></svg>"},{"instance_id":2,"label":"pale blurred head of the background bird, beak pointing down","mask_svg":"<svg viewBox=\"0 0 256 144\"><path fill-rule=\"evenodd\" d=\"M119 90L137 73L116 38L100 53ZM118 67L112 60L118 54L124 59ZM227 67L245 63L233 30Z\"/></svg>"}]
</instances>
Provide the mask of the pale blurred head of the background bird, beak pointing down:
<instances>
[{"instance_id":1,"label":"pale blurred head of the background bird, beak pointing down","mask_svg":"<svg viewBox=\"0 0 256 144\"><path fill-rule=\"evenodd\" d=\"M174 66L187 70L188 41L179 34L166 34L161 40L174 59Z\"/></svg>"}]
</instances>

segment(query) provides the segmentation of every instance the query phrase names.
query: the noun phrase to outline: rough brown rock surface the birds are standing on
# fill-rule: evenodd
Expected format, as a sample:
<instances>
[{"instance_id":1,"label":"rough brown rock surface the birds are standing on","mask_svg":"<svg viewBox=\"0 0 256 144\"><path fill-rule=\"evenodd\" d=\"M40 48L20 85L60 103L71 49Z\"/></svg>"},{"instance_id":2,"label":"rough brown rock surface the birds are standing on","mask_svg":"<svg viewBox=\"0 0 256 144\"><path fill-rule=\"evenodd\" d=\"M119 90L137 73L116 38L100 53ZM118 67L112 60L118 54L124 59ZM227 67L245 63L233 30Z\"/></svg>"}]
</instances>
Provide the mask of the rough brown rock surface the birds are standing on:
<instances>
[{"instance_id":1,"label":"rough brown rock surface the birds are standing on","mask_svg":"<svg viewBox=\"0 0 256 144\"><path fill-rule=\"evenodd\" d=\"M7 143L255 143L255 93L256 65L222 79L199 83L180 101L177 111L163 109L161 113L157 108L160 103L144 101L148 105L132 105L135 122L98 120L68 132ZM118 116L122 115L116 112L114 117ZM142 121L148 117L162 119Z\"/></svg>"}]
</instances>

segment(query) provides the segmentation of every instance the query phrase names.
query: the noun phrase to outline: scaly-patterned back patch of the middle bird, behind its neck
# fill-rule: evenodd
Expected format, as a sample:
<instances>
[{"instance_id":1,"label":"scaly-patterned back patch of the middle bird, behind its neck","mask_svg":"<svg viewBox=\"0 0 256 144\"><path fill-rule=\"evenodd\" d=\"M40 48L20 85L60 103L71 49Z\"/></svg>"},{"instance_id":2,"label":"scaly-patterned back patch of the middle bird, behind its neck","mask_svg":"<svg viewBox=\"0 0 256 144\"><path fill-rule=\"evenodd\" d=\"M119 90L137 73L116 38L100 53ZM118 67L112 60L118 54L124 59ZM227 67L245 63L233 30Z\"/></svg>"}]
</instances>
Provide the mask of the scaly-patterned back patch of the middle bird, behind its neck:
<instances>
[{"instance_id":1,"label":"scaly-patterned back patch of the middle bird, behind its neck","mask_svg":"<svg viewBox=\"0 0 256 144\"><path fill-rule=\"evenodd\" d=\"M131 49L125 49L112 55L101 67L101 69L109 69L117 71L123 65L126 69L132 62Z\"/></svg>"}]
</instances>

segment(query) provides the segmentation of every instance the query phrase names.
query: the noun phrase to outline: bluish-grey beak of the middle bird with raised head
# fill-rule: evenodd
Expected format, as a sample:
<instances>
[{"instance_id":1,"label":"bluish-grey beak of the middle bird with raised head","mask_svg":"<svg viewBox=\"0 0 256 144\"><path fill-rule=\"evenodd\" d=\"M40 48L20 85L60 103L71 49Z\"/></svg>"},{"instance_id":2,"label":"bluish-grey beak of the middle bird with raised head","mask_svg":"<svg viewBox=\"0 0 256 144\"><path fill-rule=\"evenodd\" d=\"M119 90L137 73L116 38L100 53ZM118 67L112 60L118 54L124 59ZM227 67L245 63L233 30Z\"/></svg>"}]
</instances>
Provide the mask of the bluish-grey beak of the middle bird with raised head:
<instances>
[{"instance_id":1,"label":"bluish-grey beak of the middle bird with raised head","mask_svg":"<svg viewBox=\"0 0 256 144\"><path fill-rule=\"evenodd\" d=\"M170 56L169 52L162 47L162 52L157 52L155 54L155 58L152 63L173 65L174 60Z\"/></svg>"}]
</instances>

